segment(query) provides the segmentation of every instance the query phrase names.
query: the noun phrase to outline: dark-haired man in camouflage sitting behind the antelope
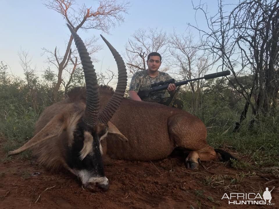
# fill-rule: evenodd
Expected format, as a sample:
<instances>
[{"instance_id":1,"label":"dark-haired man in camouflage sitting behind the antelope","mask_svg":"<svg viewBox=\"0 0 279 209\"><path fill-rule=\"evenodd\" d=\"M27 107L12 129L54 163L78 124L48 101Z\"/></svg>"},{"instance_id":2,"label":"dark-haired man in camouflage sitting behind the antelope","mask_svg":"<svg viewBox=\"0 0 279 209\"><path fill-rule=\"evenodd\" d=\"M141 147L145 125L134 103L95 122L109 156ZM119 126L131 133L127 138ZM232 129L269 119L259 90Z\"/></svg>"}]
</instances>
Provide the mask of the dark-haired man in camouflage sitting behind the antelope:
<instances>
[{"instance_id":1,"label":"dark-haired man in camouflage sitting behind the antelope","mask_svg":"<svg viewBox=\"0 0 279 209\"><path fill-rule=\"evenodd\" d=\"M160 104L169 105L171 103L172 107L177 107L182 109L182 101L176 102L174 96L176 95L176 86L174 84L169 84L167 90L157 91L153 94L149 94L148 97L141 100L137 95L139 91L149 90L151 84L158 83L160 81L167 81L171 79L171 76L167 73L159 71L162 63L162 57L157 52L151 52L147 56L147 70L137 71L131 80L129 95L132 100L144 101L144 102L156 102Z\"/></svg>"}]
</instances>

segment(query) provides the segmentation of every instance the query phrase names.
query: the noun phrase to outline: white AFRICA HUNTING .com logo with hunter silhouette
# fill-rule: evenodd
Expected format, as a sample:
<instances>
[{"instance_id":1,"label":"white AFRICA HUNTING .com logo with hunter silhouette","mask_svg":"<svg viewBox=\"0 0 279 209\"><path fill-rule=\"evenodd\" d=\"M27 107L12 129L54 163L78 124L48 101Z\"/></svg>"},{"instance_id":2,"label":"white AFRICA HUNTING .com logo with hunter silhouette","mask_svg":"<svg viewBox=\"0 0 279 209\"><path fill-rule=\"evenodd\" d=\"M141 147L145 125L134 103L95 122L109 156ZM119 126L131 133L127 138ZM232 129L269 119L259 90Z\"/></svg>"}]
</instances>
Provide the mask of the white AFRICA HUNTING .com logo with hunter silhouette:
<instances>
[{"instance_id":1,"label":"white AFRICA HUNTING .com logo with hunter silhouette","mask_svg":"<svg viewBox=\"0 0 279 209\"><path fill-rule=\"evenodd\" d=\"M229 205L275 205L271 203L271 192L274 187L269 191L267 187L264 193L225 193L222 200L228 200Z\"/></svg>"}]
</instances>

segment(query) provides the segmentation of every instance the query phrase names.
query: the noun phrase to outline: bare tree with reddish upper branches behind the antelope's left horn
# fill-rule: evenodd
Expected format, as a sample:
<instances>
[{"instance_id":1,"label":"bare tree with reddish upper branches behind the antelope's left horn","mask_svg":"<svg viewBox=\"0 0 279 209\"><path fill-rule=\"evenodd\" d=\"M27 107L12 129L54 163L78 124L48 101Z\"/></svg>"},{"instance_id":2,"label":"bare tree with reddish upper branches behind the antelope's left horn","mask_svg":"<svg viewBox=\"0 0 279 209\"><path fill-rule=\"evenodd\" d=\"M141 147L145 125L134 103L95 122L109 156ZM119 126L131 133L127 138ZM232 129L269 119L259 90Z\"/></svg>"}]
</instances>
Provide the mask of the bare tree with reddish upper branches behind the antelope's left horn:
<instances>
[{"instance_id":1,"label":"bare tree with reddish upper branches behind the antelope's left horn","mask_svg":"<svg viewBox=\"0 0 279 209\"><path fill-rule=\"evenodd\" d=\"M78 9L74 7L74 0L47 0L44 5L47 8L52 9L62 15L62 17L67 21L67 23L75 30L78 31L80 28L83 30L97 29L108 33L111 27L115 27L116 23L121 23L124 21L122 16L127 12L129 3L117 3L117 0L100 0L99 5L96 8L87 7L85 4L80 6ZM89 53L96 53L101 49L100 46L96 45L96 38L86 41L86 47L89 49ZM74 74L76 66L79 62L76 62L76 50L71 51L71 44L73 37L70 36L67 43L67 48L65 53L60 56L57 48L54 52L43 48L44 53L47 53L48 61L55 65L58 69L57 83L53 89L53 100L57 99L57 93L62 83L62 73L63 70L72 64L71 70L68 69L71 75ZM69 62L70 61L70 62ZM71 80L65 84L69 86ZM69 84L68 84L69 83Z\"/></svg>"}]
</instances>

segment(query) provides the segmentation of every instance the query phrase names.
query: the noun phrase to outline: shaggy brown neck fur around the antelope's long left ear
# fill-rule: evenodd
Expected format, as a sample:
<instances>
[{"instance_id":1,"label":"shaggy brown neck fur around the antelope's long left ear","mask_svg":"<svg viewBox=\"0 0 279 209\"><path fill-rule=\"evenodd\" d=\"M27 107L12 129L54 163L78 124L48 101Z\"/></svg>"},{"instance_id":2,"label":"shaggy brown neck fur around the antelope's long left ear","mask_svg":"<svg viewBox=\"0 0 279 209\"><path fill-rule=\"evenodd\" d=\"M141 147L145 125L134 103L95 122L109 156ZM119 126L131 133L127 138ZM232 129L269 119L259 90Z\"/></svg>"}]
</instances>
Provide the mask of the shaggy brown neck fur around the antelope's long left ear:
<instances>
[{"instance_id":1,"label":"shaggy brown neck fur around the antelope's long left ear","mask_svg":"<svg viewBox=\"0 0 279 209\"><path fill-rule=\"evenodd\" d=\"M72 144L73 130L78 121L83 116L85 110L85 101L78 100L72 102L69 98L57 102L48 107L40 116L35 124L35 134L55 116L60 115L64 123L62 132L49 140L45 140L39 145L33 147L33 154L37 156L39 163L50 169L59 169L67 167L65 162L65 147ZM68 168L69 169L69 168Z\"/></svg>"}]
</instances>

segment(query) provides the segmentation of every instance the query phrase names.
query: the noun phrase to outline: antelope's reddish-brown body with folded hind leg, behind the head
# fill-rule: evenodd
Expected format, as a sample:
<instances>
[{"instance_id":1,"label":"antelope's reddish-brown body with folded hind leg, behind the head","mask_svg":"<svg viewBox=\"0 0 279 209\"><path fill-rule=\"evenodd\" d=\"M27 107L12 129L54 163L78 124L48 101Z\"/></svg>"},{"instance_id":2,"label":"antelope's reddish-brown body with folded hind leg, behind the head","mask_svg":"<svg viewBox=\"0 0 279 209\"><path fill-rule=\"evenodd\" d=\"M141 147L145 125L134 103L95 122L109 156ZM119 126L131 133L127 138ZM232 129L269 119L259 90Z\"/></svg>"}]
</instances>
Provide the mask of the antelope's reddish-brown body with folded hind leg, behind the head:
<instances>
[{"instance_id":1,"label":"antelope's reddish-brown body with folded hind leg, behind the head","mask_svg":"<svg viewBox=\"0 0 279 209\"><path fill-rule=\"evenodd\" d=\"M85 94L84 90L83 93L77 93L78 89L75 91L70 95L73 99L78 94ZM101 103L105 104L112 93L111 88L101 87ZM176 147L190 151L185 163L192 169L198 167L200 161L217 160L216 152L221 154L223 160L233 158L227 152L209 146L204 123L180 109L124 98L110 122L122 134L115 137L115 134L108 133L101 141L103 154L111 158L158 160L166 158ZM123 140L119 140L119 137Z\"/></svg>"}]
</instances>

